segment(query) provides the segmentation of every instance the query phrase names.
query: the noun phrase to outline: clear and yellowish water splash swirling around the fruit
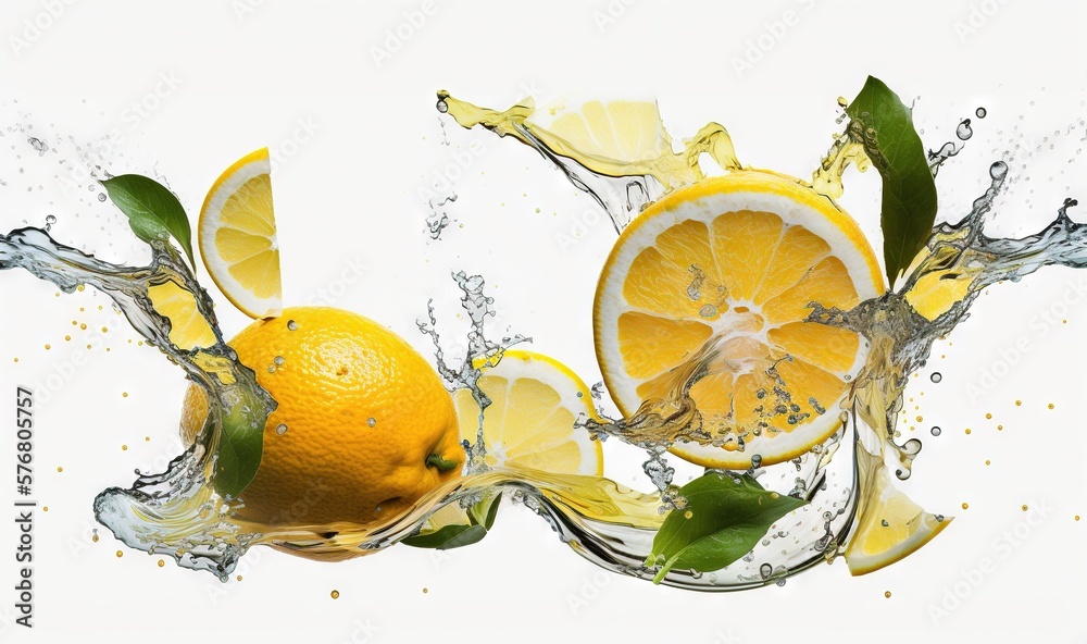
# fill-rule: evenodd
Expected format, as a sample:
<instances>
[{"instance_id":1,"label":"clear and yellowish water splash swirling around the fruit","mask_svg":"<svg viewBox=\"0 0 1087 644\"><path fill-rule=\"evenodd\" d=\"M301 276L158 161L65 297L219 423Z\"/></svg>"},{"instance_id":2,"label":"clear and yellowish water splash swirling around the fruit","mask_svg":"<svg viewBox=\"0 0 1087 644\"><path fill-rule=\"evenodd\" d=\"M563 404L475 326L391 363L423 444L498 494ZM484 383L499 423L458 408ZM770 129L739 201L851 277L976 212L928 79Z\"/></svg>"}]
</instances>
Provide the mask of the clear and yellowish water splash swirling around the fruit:
<instances>
[{"instance_id":1,"label":"clear and yellowish water splash swirling around the fruit","mask_svg":"<svg viewBox=\"0 0 1087 644\"><path fill-rule=\"evenodd\" d=\"M457 101L448 94L439 97L439 110L461 125L482 124L539 150L575 185L596 197L617 230L641 206L678 186L700 181L697 157L702 152L726 171L741 168L727 133L717 125L703 128L683 152L672 152L669 147L666 154L623 162L582 156L567 143L549 136L530 117L534 108L527 101L497 112ZM845 169L865 163L855 139L840 137L815 171L812 187L828 196L840 196ZM985 234L994 199L1007 175L1007 165L994 164L991 183L971 212L958 223L934 228L926 250L898 293L862 301L850 310L813 305L810 322L853 330L865 336L872 349L844 408L823 410L837 413L840 422L828 441L788 462L766 467L752 462L751 473L765 487L805 498L809 505L779 520L739 561L717 571L673 570L664 583L697 590L742 590L784 583L791 574L833 559L863 511L864 497L859 490L866 478L871 479L870 469L886 467L885 460L897 460L899 478L911 471L920 442L895 442L896 414L902 407L908 377L924 367L933 342L965 319L971 304L986 286L1022 278L1049 264L1087 265L1087 230L1069 218L1069 210L1075 206L1071 199L1057 219L1035 235L1009 239ZM612 190L615 186L621 189ZM132 268L101 261L57 243L46 230L28 227L0 235L0 270L7 269L29 271L65 293L83 284L104 293L147 342L209 393L209 419L196 444L175 458L165 472L138 474L129 488L102 492L96 498L95 510L98 520L126 545L170 555L182 566L208 570L220 578L225 578L253 545L322 560L366 555L417 533L430 515L449 504L471 503L483 495L509 491L544 517L579 555L615 572L650 579L653 571L644 561L663 521L662 508L666 510L670 503L673 507L682 504L682 499L670 496L674 473L665 457L667 447L679 436L709 443L722 439L697 426L697 408L688 396L690 386L704 376L705 366L713 359L708 350L677 371L670 388L672 395L666 399L647 401L630 418L585 423L600 437L612 436L647 450L650 458L645 470L655 487L652 494L597 476L487 467L482 414L489 400L478 387L480 371L500 360L505 348L528 338L514 335L491 339L487 322L493 318L495 302L485 292L485 281L455 273L461 306L471 321L462 355L453 359L442 350L433 302L427 307L426 321L418 326L434 342L437 367L447 383L470 389L480 409L480 431L475 443L465 445L470 457L466 474L433 490L402 515L386 517L380 523L254 524L239 517L238 500L215 492L216 438L223 419L246 409L252 426L263 429L275 403L259 387L253 371L240 364L223 342L211 300L177 251L155 244L151 262ZM154 289L167 284L192 295L214 338L207 343L209 346L173 344L168 318L154 308ZM700 294L704 283L692 273L688 286L682 296ZM292 324L288 321L288 329ZM938 428L933 429L933 434L938 434ZM858 465L861 460L867 463L864 468Z\"/></svg>"}]
</instances>

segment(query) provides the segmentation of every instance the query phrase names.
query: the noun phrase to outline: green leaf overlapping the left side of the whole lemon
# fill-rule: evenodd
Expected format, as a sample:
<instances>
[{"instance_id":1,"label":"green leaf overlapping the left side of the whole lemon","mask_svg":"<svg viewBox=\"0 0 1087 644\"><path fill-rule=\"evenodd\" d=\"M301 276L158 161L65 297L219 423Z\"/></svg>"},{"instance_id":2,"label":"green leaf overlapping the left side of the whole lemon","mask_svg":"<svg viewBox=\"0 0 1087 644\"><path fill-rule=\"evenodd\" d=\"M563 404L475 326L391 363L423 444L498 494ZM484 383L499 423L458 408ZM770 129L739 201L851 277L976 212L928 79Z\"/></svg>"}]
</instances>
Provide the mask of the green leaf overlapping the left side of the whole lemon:
<instances>
[{"instance_id":1,"label":"green leaf overlapping the left side of the whole lemon","mask_svg":"<svg viewBox=\"0 0 1087 644\"><path fill-rule=\"evenodd\" d=\"M240 391L240 389L239 389ZM252 482L264 454L264 406L249 393L223 417L215 458L215 492L237 498Z\"/></svg>"}]
</instances>

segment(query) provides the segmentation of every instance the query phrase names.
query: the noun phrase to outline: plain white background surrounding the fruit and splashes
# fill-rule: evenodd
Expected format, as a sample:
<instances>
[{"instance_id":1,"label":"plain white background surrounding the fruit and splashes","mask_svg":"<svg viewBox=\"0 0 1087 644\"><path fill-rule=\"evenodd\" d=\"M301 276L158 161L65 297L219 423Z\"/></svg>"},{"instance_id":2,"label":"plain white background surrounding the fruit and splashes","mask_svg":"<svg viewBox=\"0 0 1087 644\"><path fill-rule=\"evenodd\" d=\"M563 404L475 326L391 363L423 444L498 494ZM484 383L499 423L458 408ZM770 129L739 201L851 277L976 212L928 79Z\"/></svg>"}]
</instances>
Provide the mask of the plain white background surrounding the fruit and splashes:
<instances>
[{"instance_id":1,"label":"plain white background surrounding the fruit and splashes","mask_svg":"<svg viewBox=\"0 0 1087 644\"><path fill-rule=\"evenodd\" d=\"M544 99L655 97L676 138L719 121L744 162L808 176L839 127L835 99L852 97L874 74L904 100L916 99L915 120L930 148L952 136L960 117L978 106L988 110L938 177L942 216L966 212L989 162L1009 156L1012 179L995 232L1034 232L1065 196L1087 197L1084 165L1069 162L1084 136L1083 5L435 2L380 64L373 48L386 47L387 30L405 21L404 12L421 11L418 2L84 0L54 9L60 15L51 20L40 17L48 2L5 2L0 178L9 185L0 187L0 231L40 225L52 213L61 240L113 259L146 257L109 203L72 187L87 185L78 168L67 170L79 165L73 146L39 158L25 133L9 126L33 125L51 145L68 134L100 145L115 131L123 140L112 139L109 170L158 173L192 213L223 168L272 146L293 152L274 175L288 304L336 294L336 306L382 321L429 355L415 330L426 300L434 297L439 321L460 333L449 272L482 273L497 298L498 332L533 336L537 350L591 383L599 372L590 302L613 231L529 149L451 123L451 145L441 145L436 89L498 108L529 91ZM28 47L11 39L26 38L24 21L35 20L48 27L27 38ZM776 25L786 20L791 24ZM738 70L738 60L752 64ZM149 98L157 89L161 96ZM154 109L139 115L134 102ZM301 122L314 131L292 145ZM432 242L420 190L455 166L455 154L473 141L483 152L453 171L461 175L450 208L457 221ZM844 203L878 248L878 179L848 179ZM575 234L576 244L561 243ZM360 264L365 269L352 269ZM239 568L243 581L227 584L170 561L159 568L158 557L127 548L118 559L109 531L90 540L91 500L107 486L130 483L135 468L161 469L177 451L185 382L153 349L127 344L133 335L109 307L97 311L105 298L54 297L47 284L5 273L2 397L18 384L67 375L38 409L36 496L49 511L38 513L35 534L36 628L9 626L16 532L0 512L0 639L112 631L121 641L139 634L163 642L1077 642L1087 637L1087 520L1074 520L1087 516L1077 412L1087 304L1070 286L1078 281L1087 285L1075 271L1050 269L994 287L949 338L953 346L935 348L942 383L932 384L926 370L911 387L916 403L908 409L924 421L902 429L915 424L912 434L925 448L908 488L928 509L957 515L937 540L863 578L850 578L838 561L785 587L699 594L603 573L523 508L507 508L483 543L438 556L396 547L328 565L257 549ZM1062 298L1078 301L1064 306ZM218 299L233 335L246 319ZM1049 312L1053 324L1041 318ZM110 331L96 339L72 320ZM1029 349L1012 356L1024 339ZM91 357L70 370L75 348L92 340ZM990 382L986 369L1002 377ZM0 410L11 416L0 441L0 472L9 472L0 476L0 503L10 507L14 410L9 403ZM944 429L938 438L928 434L933 424ZM610 473L644 487L629 468L613 467L635 458L623 451L608 445ZM960 509L964 501L969 510ZM1022 511L1024 504L1033 511ZM985 558L990 572L971 573ZM334 589L339 599L329 597Z\"/></svg>"}]
</instances>

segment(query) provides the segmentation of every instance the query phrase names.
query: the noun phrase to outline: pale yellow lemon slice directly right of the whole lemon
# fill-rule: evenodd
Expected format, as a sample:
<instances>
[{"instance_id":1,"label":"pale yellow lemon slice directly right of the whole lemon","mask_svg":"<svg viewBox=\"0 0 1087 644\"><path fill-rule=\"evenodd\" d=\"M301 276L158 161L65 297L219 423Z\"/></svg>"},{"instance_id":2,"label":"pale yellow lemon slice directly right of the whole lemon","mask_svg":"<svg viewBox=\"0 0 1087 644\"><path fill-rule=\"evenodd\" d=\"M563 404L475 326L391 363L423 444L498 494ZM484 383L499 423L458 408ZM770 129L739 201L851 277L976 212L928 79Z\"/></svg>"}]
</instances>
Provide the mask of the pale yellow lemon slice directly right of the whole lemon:
<instances>
[{"instance_id":1,"label":"pale yellow lemon slice directly right of the whole lemon","mask_svg":"<svg viewBox=\"0 0 1087 644\"><path fill-rule=\"evenodd\" d=\"M487 465L518 466L559 474L603 474L599 441L575 426L582 414L597 419L592 397L577 375L560 362L529 351L508 350L487 368L479 388L491 404L484 412ZM461 437L476 441L479 407L472 394L453 395Z\"/></svg>"}]
</instances>

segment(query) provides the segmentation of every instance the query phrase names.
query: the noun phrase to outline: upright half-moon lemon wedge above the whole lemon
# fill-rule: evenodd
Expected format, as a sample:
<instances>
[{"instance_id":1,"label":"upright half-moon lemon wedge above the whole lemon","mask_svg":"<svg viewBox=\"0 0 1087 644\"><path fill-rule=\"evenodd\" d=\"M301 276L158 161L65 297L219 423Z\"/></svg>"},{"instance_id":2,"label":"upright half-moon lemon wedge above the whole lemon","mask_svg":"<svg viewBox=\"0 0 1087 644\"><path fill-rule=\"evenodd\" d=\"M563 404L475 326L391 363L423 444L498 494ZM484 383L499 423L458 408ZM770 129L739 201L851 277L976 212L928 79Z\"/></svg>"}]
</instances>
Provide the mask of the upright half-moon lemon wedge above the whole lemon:
<instances>
[{"instance_id":1,"label":"upright half-moon lemon wedge above the whole lemon","mask_svg":"<svg viewBox=\"0 0 1087 644\"><path fill-rule=\"evenodd\" d=\"M274 318L283 311L267 148L242 157L215 179L200 210L197 239L211 278L241 312Z\"/></svg>"}]
</instances>

